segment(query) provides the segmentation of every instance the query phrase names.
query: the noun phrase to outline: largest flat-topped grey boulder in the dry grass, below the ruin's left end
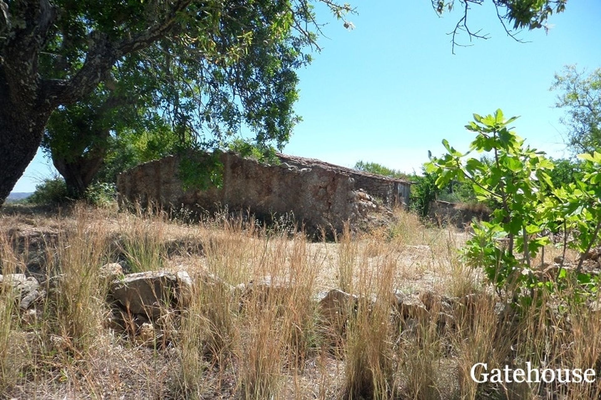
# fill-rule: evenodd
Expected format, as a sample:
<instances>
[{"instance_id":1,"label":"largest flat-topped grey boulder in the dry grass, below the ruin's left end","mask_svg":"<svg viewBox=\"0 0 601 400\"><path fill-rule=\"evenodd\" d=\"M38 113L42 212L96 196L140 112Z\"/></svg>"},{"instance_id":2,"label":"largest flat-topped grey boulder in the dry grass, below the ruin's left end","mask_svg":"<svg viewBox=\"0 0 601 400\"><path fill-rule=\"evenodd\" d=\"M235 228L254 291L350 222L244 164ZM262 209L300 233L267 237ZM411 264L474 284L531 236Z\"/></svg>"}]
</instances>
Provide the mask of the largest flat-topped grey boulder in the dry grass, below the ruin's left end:
<instances>
[{"instance_id":1,"label":"largest flat-topped grey boulder in the dry grass, below the ruin's left end","mask_svg":"<svg viewBox=\"0 0 601 400\"><path fill-rule=\"evenodd\" d=\"M144 314L154 320L161 309L189 304L192 279L185 271L148 271L128 274L109 285L109 295L129 314Z\"/></svg>"}]
</instances>

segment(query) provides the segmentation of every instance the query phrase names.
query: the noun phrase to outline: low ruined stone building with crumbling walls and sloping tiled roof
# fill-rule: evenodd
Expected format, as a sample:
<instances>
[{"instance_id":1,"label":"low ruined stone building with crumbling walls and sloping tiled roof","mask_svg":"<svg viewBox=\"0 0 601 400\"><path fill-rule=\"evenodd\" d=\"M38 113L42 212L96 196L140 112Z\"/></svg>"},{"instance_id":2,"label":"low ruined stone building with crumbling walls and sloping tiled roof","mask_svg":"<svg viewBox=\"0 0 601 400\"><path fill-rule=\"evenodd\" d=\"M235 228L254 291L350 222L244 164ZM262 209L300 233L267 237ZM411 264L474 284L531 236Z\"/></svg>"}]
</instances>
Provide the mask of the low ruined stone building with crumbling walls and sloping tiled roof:
<instances>
[{"instance_id":1,"label":"low ruined stone building with crumbling walls and sloping tiled roof","mask_svg":"<svg viewBox=\"0 0 601 400\"><path fill-rule=\"evenodd\" d=\"M195 154L198 156L197 153ZM194 155L194 154L193 154ZM304 157L278 154L269 165L234 153L220 153L221 188L183 190L182 156L138 165L117 177L120 205L185 207L192 211L250 211L260 219L289 215L306 232L368 229L391 216L393 205L409 204L410 182L356 171Z\"/></svg>"}]
</instances>

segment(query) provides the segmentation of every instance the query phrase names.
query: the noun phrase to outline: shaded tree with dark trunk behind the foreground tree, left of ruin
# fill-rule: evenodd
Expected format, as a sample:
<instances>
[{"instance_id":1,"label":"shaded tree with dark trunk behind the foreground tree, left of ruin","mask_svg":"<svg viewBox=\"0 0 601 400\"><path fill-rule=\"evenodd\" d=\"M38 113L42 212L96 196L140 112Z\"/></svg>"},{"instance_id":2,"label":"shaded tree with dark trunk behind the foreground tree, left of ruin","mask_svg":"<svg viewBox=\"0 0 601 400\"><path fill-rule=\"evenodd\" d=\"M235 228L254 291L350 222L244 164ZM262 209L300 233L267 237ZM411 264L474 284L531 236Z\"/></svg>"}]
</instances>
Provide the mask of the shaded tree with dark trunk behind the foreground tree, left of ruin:
<instances>
[{"instance_id":1,"label":"shaded tree with dark trunk behind the foreground tree, left of ruin","mask_svg":"<svg viewBox=\"0 0 601 400\"><path fill-rule=\"evenodd\" d=\"M63 175L70 197L84 196L101 169L105 169L103 179L114 183L115 177L108 177L108 171L115 175L122 171L120 168L152 159L144 156L145 150L140 148L129 151L131 145L139 147L149 136L152 138L147 144L154 149L147 150L154 157L173 153L178 147L176 144L191 144L190 130L177 135L177 129L166 120L168 112L159 112L160 76L141 68L144 65L141 56L146 53L142 50L136 56L129 56L126 62L118 62L111 70L110 79L100 83L95 91L73 105L59 107L50 115L41 144ZM136 133L139 138L135 137ZM116 151L123 154L115 156ZM105 168L109 153L113 162Z\"/></svg>"}]
</instances>

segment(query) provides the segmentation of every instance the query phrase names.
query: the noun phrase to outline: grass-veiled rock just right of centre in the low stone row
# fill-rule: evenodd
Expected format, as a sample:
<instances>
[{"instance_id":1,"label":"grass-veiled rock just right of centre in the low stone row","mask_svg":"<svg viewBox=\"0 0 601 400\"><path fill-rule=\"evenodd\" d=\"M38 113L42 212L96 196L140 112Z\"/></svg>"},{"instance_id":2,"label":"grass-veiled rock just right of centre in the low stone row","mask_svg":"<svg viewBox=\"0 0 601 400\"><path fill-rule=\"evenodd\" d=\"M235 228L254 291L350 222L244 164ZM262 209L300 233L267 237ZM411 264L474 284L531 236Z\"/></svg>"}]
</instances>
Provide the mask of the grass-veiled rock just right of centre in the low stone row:
<instances>
[{"instance_id":1,"label":"grass-veiled rock just right of centre in the low stone row","mask_svg":"<svg viewBox=\"0 0 601 400\"><path fill-rule=\"evenodd\" d=\"M319 292L315 300L322 323L331 333L340 334L346 327L349 315L355 311L359 298L340 289L330 289Z\"/></svg>"}]
</instances>

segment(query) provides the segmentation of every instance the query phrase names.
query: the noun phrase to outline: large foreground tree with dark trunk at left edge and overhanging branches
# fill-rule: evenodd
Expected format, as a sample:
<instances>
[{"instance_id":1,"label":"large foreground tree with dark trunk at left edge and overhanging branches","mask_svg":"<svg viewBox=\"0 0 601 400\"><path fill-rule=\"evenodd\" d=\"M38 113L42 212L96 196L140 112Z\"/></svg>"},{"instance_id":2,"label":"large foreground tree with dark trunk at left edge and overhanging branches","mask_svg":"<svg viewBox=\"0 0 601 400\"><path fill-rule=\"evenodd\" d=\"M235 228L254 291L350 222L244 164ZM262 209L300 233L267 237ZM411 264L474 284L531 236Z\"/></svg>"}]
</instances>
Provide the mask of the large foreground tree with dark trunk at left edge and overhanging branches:
<instances>
[{"instance_id":1,"label":"large foreground tree with dark trunk at left edge and overhanging branches","mask_svg":"<svg viewBox=\"0 0 601 400\"><path fill-rule=\"evenodd\" d=\"M322 1L338 18L352 11L348 4ZM545 20L549 13L540 3L555 3L493 1L511 11L510 21L528 13ZM159 75L160 85L152 92L159 112L169 114L182 132L194 130L201 141L219 142L231 125L211 117L234 115L230 123L248 123L258 142L277 142L276 130L296 121L291 111L296 92L288 85L296 84L293 68L308 61L304 49L315 44L312 29L319 32L312 10L308 0L258 0L252 7L233 0L0 0L0 202L33 159L52 112L84 100L111 81L115 67L128 62L135 71ZM562 10L558 5L556 11ZM351 25L345 20L344 26ZM284 56L286 67L270 57L272 64L260 71L249 64L231 74L216 68L275 52ZM191 85L203 77L199 65L225 85ZM242 91L235 82L245 83ZM224 97L230 101L220 102ZM203 115L197 100L208 105L209 98L217 102L215 113ZM269 98L277 102L263 107ZM287 137L281 139L284 143Z\"/></svg>"}]
</instances>

